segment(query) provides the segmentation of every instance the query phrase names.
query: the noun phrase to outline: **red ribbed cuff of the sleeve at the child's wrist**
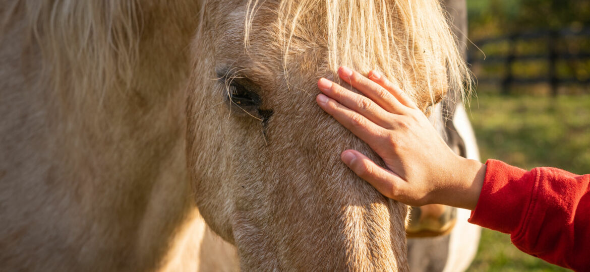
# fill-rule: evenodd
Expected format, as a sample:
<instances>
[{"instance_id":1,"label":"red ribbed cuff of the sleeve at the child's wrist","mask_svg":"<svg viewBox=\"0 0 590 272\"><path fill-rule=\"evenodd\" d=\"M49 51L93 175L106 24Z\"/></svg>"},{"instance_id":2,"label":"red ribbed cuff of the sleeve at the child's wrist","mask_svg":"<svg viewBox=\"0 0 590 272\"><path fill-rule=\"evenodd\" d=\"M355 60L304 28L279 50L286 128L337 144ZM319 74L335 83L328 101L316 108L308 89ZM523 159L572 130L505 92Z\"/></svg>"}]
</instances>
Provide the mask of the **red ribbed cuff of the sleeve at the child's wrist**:
<instances>
[{"instance_id":1,"label":"red ribbed cuff of the sleeve at the child's wrist","mask_svg":"<svg viewBox=\"0 0 590 272\"><path fill-rule=\"evenodd\" d=\"M469 222L514 233L526 220L536 171L527 172L497 160L488 160L486 165L486 177Z\"/></svg>"}]
</instances>

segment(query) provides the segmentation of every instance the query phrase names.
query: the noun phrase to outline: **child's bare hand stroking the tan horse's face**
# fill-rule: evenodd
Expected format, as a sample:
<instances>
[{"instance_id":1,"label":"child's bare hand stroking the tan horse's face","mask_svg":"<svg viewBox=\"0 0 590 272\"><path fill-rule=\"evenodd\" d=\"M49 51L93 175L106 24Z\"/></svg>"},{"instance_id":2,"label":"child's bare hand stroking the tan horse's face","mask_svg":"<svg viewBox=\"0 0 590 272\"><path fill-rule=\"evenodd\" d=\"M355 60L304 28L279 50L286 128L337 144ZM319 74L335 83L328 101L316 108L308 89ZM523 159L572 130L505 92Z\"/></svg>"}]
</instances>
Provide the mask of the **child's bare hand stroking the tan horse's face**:
<instances>
[{"instance_id":1,"label":"child's bare hand stroking the tan horse's face","mask_svg":"<svg viewBox=\"0 0 590 272\"><path fill-rule=\"evenodd\" d=\"M408 205L475 208L485 165L456 155L411 98L378 72L366 78L340 67L338 74L365 96L320 78L323 94L317 104L369 144L386 165L346 150L342 161L352 171L386 197Z\"/></svg>"}]
</instances>

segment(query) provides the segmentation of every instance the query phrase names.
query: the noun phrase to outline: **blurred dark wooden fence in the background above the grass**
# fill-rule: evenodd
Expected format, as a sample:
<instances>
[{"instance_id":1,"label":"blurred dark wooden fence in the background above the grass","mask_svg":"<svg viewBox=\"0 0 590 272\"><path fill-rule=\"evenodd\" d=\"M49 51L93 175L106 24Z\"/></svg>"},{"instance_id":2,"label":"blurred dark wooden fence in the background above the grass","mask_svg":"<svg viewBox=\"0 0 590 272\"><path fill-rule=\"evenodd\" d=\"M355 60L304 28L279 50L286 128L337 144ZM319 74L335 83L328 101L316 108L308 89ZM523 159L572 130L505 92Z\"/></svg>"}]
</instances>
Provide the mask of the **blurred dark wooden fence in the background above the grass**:
<instances>
[{"instance_id":1,"label":"blurred dark wooden fence in the background above the grass","mask_svg":"<svg viewBox=\"0 0 590 272\"><path fill-rule=\"evenodd\" d=\"M590 27L578 30L523 32L481 39L474 41L474 44L477 48L470 48L467 59L474 69L477 81L480 84L498 84L503 94L509 94L513 85L516 84L549 84L553 95L558 94L562 84L578 84L583 87L590 85ZM520 46L523 44L528 44L532 49L527 52L526 47ZM484 53L487 53L486 48L503 48L503 50L491 50L492 52L484 57L479 48ZM518 73L515 74L515 64L539 61L546 65L546 71L540 75L523 77L517 75ZM558 72L559 62L566 62L570 67L582 66L582 73L572 72L563 75ZM499 68L496 70L500 71L500 75L490 77L485 72L486 67L493 66Z\"/></svg>"}]
</instances>

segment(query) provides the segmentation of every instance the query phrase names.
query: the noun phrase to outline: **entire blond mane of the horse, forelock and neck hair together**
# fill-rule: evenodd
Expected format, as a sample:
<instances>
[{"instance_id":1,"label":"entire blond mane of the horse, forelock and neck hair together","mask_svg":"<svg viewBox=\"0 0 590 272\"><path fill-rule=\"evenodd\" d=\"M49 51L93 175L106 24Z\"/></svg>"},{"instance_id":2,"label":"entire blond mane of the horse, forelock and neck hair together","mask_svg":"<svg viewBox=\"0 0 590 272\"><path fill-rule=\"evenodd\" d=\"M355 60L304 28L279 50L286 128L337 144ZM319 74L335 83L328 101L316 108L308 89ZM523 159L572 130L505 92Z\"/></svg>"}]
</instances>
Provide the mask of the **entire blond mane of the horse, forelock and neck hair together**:
<instances>
[{"instance_id":1,"label":"entire blond mane of the horse, forelock and neck hair together","mask_svg":"<svg viewBox=\"0 0 590 272\"><path fill-rule=\"evenodd\" d=\"M260 2L247 2L246 48ZM42 78L54 89L84 90L69 94L74 97L89 90L103 93L132 81L142 21L139 11L136 1L18 0L4 9L0 37L11 15L25 12L26 31L50 64L42 66ZM364 73L381 67L409 95L427 92L432 104L440 99L441 89L470 92L471 74L439 1L293 0L280 1L276 13L284 65L294 53L314 49L309 42L298 42L304 39L327 50L332 71L340 65ZM424 83L427 90L414 90L416 82Z\"/></svg>"}]
</instances>

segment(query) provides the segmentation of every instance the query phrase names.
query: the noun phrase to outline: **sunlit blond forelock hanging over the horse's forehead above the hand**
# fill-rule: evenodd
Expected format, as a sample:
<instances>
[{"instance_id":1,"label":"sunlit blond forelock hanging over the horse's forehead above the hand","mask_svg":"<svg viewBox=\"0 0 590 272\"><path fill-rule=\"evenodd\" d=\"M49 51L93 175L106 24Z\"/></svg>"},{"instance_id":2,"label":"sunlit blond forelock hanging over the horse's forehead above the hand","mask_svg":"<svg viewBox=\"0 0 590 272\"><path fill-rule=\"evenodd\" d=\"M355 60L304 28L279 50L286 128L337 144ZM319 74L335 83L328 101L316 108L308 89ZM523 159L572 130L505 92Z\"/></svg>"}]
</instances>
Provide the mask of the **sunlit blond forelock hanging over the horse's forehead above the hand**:
<instances>
[{"instance_id":1,"label":"sunlit blond forelock hanging over the horse's forehead above the hand","mask_svg":"<svg viewBox=\"0 0 590 272\"><path fill-rule=\"evenodd\" d=\"M248 0L246 47L259 5ZM437 0L280 1L276 13L284 65L297 52L314 49L304 48L311 41L327 49L330 70L348 65L366 74L383 68L381 72L409 95L417 96L416 82L422 82L432 104L440 99L441 89L442 94L449 87L470 92L470 71Z\"/></svg>"}]
</instances>

